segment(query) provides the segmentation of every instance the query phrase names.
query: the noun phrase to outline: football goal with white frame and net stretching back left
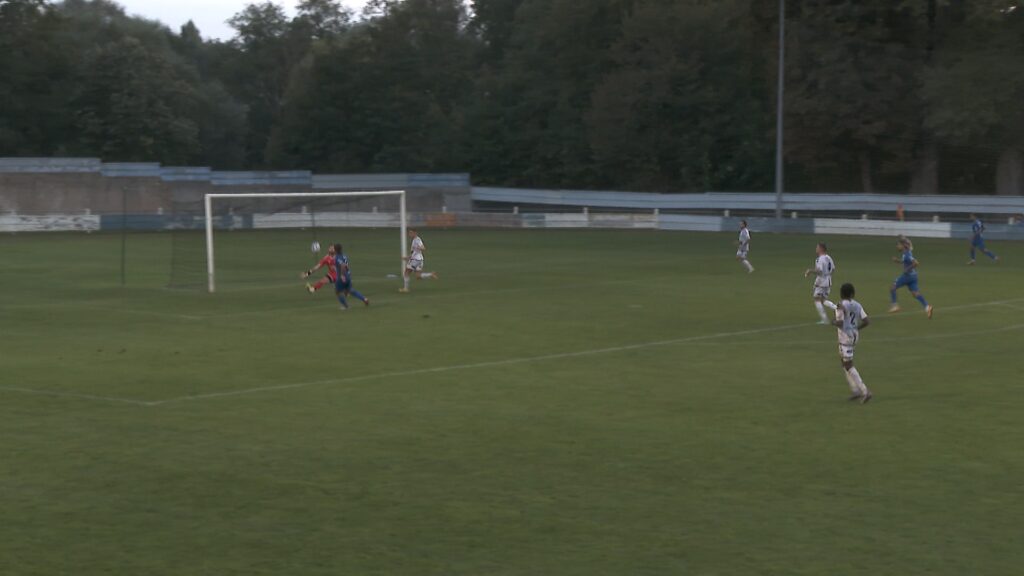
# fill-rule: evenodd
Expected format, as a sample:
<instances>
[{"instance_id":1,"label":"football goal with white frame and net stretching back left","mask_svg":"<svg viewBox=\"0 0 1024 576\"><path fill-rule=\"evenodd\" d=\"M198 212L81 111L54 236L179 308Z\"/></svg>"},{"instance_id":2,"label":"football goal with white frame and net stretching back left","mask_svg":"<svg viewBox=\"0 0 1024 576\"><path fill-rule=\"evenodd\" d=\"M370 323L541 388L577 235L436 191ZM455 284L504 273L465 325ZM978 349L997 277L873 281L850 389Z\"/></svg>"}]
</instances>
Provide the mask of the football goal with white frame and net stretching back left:
<instances>
[{"instance_id":1,"label":"football goal with white frame and net stretching back left","mask_svg":"<svg viewBox=\"0 0 1024 576\"><path fill-rule=\"evenodd\" d=\"M333 244L343 246L357 282L394 281L407 222L403 191L207 194L202 213L175 227L171 286L300 287L299 275Z\"/></svg>"}]
</instances>

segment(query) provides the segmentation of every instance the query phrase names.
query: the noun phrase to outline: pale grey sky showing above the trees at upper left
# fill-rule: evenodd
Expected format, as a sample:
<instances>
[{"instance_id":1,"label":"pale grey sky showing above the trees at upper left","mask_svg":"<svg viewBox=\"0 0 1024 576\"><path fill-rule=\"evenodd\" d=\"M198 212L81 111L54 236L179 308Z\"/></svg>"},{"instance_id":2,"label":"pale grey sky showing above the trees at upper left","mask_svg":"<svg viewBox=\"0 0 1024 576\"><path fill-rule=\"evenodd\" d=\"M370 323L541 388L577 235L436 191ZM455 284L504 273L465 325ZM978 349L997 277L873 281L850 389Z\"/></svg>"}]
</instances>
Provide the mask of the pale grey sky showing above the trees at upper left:
<instances>
[{"instance_id":1,"label":"pale grey sky showing above the trees at upper left","mask_svg":"<svg viewBox=\"0 0 1024 576\"><path fill-rule=\"evenodd\" d=\"M225 24L249 4L249 0L116 0L124 6L129 14L144 16L160 20L178 30L181 25L191 19L199 27L204 38L219 38L226 40L233 36L233 31ZM285 7L289 15L295 13L295 5L299 0L275 0ZM358 11L362 9L366 0L342 0L342 4Z\"/></svg>"}]
</instances>

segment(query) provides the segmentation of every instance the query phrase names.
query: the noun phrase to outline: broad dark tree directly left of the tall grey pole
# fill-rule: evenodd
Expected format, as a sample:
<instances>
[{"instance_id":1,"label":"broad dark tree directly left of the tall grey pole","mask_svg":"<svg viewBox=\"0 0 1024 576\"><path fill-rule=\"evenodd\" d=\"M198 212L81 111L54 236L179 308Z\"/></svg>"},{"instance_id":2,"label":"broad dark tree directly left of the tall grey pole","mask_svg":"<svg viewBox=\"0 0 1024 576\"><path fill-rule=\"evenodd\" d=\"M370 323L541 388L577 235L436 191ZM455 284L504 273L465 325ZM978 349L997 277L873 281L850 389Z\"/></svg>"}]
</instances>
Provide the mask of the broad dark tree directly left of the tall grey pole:
<instances>
[{"instance_id":1,"label":"broad dark tree directly left of the tall grey pole","mask_svg":"<svg viewBox=\"0 0 1024 576\"><path fill-rule=\"evenodd\" d=\"M587 124L607 186L763 190L771 115L742 1L638 2ZM708 46L714 49L708 49Z\"/></svg>"}]
</instances>

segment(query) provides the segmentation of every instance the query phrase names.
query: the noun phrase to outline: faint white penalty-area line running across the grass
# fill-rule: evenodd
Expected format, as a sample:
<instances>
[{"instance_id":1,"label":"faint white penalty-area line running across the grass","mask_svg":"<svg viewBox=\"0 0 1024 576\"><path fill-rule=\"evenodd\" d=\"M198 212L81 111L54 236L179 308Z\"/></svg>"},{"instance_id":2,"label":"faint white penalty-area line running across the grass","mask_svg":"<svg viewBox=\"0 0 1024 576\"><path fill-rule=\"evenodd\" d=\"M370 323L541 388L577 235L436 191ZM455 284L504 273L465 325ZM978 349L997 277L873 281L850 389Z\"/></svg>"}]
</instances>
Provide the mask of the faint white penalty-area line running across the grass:
<instances>
[{"instance_id":1,"label":"faint white penalty-area line running across the grass","mask_svg":"<svg viewBox=\"0 0 1024 576\"><path fill-rule=\"evenodd\" d=\"M941 310L943 310L945 312L964 311L964 310L971 310L971 308L982 307L982 306L989 306L989 305L1006 305L1006 304L1009 304L1009 303L1021 302L1021 301L1024 301L1024 298L1017 298L1017 299L1011 299L1011 300L994 300L994 301L990 301L990 302L975 302L975 303L971 303L971 304L962 304L962 305L956 305L956 306L948 306L948 307L941 308ZM893 316L894 317L909 318L911 315L904 312L904 313L900 313L900 314L893 315ZM163 405L167 405L167 404L179 404L179 403L184 403L184 402L193 402L193 401L199 401L199 400L209 400L209 399L217 399L217 398L229 398L229 397L248 396L248 395L252 395L252 394L267 393L267 392L276 392L276 390L287 390L287 389L295 389L295 388L304 388L304 387L317 386L317 385L332 385L332 384L360 382L360 381L366 381L366 380L375 380L375 379L381 379L381 378L417 376L417 375L423 375L423 374L436 374L436 373L454 372L454 371L460 371L460 370L472 370L472 369L476 369L476 368L493 368L493 367L497 367L497 366L510 366L510 365L517 365L517 364L528 364L528 363L534 363L534 362L544 362L544 361L549 361L549 360L562 360L562 359L568 359L568 358L585 358L585 357L596 356L596 355L601 355L601 354L615 354L615 353L622 353L622 352L630 352L630 351L637 351L637 349L646 349L646 348L669 346L669 345L677 345L677 344L686 344L686 343L695 343L695 342L707 342L708 340L715 340L715 339L719 339L719 338L730 338L730 337L736 337L736 336L748 336L748 335L754 335L754 334L764 334L764 333L768 333L768 332L778 332L778 331L782 331L782 330L792 330L792 329L795 329L795 328L805 328L805 327L809 327L809 326L817 326L817 323L788 324L788 325L781 325L781 326L770 326L770 327L767 327L767 328L757 328L757 329L753 329L753 330L740 330L740 331L736 331L736 332L719 332L719 333L716 333L716 334L705 334L705 335L700 335L700 336L687 336L687 337L684 337L684 338L673 338L673 339L669 339L669 340L655 340L655 341L650 341L650 342L641 342L641 343L627 344L627 345L622 345L622 346L610 346L610 347L603 347L603 348L592 348L592 349L585 349L585 351L578 351L578 352L567 352L567 353L559 353L559 354L549 354L549 355L542 355L542 356L527 356L527 357L519 357L519 358L510 358L510 359L506 359L506 360L495 360L495 361L489 361L489 362L478 362L478 363L472 363L472 364L456 364L456 365L450 365L450 366L436 366L436 367L433 367L433 368L421 368L421 369L417 369L417 370L406 370L406 371L396 371L396 372L381 372L381 373L377 373L377 374L367 374L367 375L362 375L362 376L352 376L352 377L348 377L348 378L333 378L333 379L326 379L326 380L312 380L312 381L305 381L305 382L292 382L292 383L285 383L285 384L271 384L271 385L257 386L257 387L252 387L252 388L243 388L243 389L237 389L237 390L225 390L225 392L219 392L219 393L210 393L210 394L182 396L182 397L177 397L177 398L170 398L170 399L167 399L167 400L155 400L155 401L143 401L143 400L136 400L136 399L128 399L128 398L92 396L92 395L85 395L85 394L63 393L63 392L58 392L58 390L34 389L34 388L24 388L24 387L13 387L13 386L10 386L10 387L6 387L6 386L5 387L0 387L0 390L12 392L12 393L22 393L22 394L31 394L31 395L38 395L38 396L53 396L53 397L66 397L66 398L79 398L79 399L87 399L87 400L95 400L95 401L106 401L106 402L116 402L116 403L122 403L122 404L132 404L132 405L136 405L136 406L153 407L153 406L163 406ZM1021 328L1024 328L1024 325L1013 325L1013 326L1009 326L1009 327L993 328L991 330L986 330L986 331L977 331L977 332L970 333L970 335L979 335L979 334L996 333L996 332L1007 332L1007 331L1017 330L1017 329L1021 329ZM935 335L934 337L954 337L954 336L958 337L958 336L963 336L963 335L966 335L966 334ZM908 336L908 337L905 337L905 338L893 338L893 339L894 340L898 340L898 339L908 340L908 339L922 339L925 336ZM817 343L819 341L822 341L822 340L814 340L813 342Z\"/></svg>"}]
</instances>

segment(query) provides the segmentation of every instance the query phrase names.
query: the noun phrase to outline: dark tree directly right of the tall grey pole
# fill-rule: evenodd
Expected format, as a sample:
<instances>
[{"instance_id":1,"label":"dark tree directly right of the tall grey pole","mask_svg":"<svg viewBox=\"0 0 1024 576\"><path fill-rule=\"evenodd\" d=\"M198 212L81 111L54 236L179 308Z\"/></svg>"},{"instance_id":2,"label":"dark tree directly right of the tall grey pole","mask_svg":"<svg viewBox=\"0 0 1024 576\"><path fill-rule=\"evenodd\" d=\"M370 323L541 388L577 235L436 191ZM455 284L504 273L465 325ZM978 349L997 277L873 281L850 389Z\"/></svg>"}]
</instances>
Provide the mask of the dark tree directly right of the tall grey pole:
<instances>
[{"instance_id":1,"label":"dark tree directly right of the tall grey pole","mask_svg":"<svg viewBox=\"0 0 1024 576\"><path fill-rule=\"evenodd\" d=\"M790 27L786 155L816 189L848 182L874 192L880 169L905 186L921 124L922 32L891 0L814 0ZM895 172L895 174L893 173ZM841 183L840 186L846 186Z\"/></svg>"}]
</instances>

